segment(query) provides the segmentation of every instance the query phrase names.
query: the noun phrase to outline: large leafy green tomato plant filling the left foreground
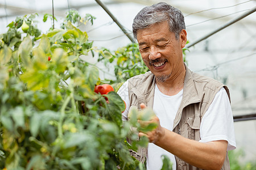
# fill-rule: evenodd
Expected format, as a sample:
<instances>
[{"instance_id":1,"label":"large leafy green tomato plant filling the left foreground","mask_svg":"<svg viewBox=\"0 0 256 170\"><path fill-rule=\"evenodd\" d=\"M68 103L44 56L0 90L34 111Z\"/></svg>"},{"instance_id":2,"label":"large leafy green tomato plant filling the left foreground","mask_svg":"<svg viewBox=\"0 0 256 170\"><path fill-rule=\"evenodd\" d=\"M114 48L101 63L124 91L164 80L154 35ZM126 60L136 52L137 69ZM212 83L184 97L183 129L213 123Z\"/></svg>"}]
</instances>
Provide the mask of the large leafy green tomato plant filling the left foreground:
<instances>
[{"instance_id":1,"label":"large leafy green tomato plant filling the left foreground","mask_svg":"<svg viewBox=\"0 0 256 170\"><path fill-rule=\"evenodd\" d=\"M46 33L36 17L16 18L0 35L0 168L144 169L129 149L146 139L126 142L125 103L112 88L94 92L99 71L81 58L93 42L73 24L93 16L70 14Z\"/></svg>"}]
</instances>

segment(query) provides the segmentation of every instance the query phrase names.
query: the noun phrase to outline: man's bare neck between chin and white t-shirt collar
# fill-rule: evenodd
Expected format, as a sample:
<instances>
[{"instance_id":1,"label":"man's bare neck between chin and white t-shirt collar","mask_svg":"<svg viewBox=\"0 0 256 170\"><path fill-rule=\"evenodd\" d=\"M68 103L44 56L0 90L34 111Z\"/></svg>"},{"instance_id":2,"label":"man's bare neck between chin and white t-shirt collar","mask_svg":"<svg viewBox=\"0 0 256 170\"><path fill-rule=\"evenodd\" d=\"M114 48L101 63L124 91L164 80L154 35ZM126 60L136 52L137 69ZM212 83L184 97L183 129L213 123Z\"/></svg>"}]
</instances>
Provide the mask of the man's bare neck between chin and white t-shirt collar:
<instances>
[{"instance_id":1,"label":"man's bare neck between chin and white t-shirt collar","mask_svg":"<svg viewBox=\"0 0 256 170\"><path fill-rule=\"evenodd\" d=\"M184 66L184 69L182 68L176 75L171 75L171 77L165 82L159 82L156 80L156 85L164 95L174 96L183 89L185 74L186 70Z\"/></svg>"}]
</instances>

